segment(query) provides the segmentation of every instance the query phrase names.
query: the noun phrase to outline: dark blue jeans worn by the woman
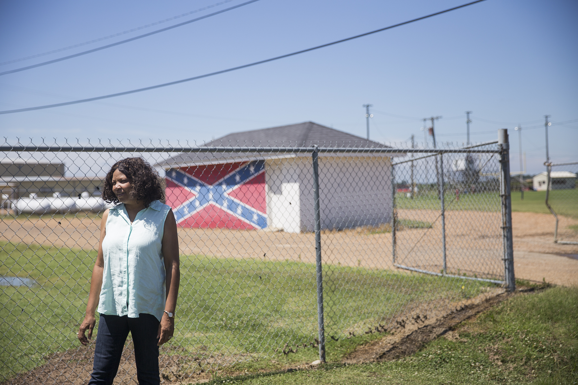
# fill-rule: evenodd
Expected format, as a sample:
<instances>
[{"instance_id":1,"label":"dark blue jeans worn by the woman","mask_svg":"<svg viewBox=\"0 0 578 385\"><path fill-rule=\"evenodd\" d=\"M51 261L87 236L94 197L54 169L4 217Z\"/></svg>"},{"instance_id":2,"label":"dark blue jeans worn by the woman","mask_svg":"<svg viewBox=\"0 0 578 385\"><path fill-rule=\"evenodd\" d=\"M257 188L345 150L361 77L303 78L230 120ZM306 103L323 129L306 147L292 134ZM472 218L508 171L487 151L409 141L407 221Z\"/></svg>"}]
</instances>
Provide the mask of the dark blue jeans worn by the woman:
<instances>
[{"instance_id":1,"label":"dark blue jeans worn by the woman","mask_svg":"<svg viewBox=\"0 0 578 385\"><path fill-rule=\"evenodd\" d=\"M131 332L135 345L136 378L140 385L161 383L158 373L158 320L152 314L139 318L101 314L98 321L94 365L89 385L111 385L123 354L124 342Z\"/></svg>"}]
</instances>

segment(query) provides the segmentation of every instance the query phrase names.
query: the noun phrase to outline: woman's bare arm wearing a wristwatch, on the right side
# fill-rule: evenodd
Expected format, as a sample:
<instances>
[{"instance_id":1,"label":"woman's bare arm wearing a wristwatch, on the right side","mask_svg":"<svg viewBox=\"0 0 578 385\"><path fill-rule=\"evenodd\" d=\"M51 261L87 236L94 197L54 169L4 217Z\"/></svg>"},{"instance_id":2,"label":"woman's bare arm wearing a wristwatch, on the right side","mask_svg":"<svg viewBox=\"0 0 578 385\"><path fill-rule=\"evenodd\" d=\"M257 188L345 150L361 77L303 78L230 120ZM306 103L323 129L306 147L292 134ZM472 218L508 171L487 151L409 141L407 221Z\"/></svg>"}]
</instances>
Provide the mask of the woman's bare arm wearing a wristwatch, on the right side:
<instances>
[{"instance_id":1,"label":"woman's bare arm wearing a wristwatch, on the right side","mask_svg":"<svg viewBox=\"0 0 578 385\"><path fill-rule=\"evenodd\" d=\"M166 303L165 310L175 313L180 283L179 236L177 223L172 210L166 215L164 234L162 235L162 256L165 259L166 272ZM166 313L162 314L158 325L158 345L167 342L175 332L175 320Z\"/></svg>"}]
</instances>

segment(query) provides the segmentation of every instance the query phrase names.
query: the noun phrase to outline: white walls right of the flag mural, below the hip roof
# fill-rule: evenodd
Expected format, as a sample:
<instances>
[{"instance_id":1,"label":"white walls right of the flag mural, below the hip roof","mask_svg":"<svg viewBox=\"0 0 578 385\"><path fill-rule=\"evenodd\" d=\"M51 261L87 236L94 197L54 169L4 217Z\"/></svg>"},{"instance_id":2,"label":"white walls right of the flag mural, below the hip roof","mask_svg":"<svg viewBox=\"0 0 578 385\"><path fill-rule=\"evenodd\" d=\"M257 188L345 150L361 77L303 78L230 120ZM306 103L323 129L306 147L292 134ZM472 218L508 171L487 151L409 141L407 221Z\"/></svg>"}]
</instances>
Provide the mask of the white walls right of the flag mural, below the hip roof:
<instances>
[{"instance_id":1,"label":"white walls right of the flag mural, below the hip roof","mask_svg":"<svg viewBox=\"0 0 578 385\"><path fill-rule=\"evenodd\" d=\"M310 156L265 162L268 226L313 231L313 168ZM391 219L388 157L319 157L322 229L354 228Z\"/></svg>"}]
</instances>

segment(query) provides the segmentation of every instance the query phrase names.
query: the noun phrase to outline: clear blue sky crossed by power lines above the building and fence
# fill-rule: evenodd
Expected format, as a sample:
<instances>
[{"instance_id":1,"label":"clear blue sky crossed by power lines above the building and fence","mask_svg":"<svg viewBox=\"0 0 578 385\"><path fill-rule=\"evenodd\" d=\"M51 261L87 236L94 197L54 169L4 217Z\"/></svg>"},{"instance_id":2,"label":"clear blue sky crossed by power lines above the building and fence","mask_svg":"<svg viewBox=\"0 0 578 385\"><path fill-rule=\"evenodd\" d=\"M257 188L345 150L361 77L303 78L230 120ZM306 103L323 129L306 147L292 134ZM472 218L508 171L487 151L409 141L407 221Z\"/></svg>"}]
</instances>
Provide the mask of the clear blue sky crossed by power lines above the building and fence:
<instances>
[{"instance_id":1,"label":"clear blue sky crossed by power lines above the building and fence","mask_svg":"<svg viewBox=\"0 0 578 385\"><path fill-rule=\"evenodd\" d=\"M0 62L125 31L216 3L195 1L3 1ZM0 66L51 60L104 42ZM0 109L88 98L171 82L346 38L460 5L461 1L260 0L230 12L83 57L0 76ZM513 169L522 123L528 172L543 171L543 116L554 161L578 161L578 2L487 0L465 9L206 79L100 102L0 115L0 134L20 138L210 140L229 132L315 121L400 142L436 122L438 141L465 142L509 128ZM162 112L160 112L162 111ZM387 113L387 114L384 114ZM389 114L389 115L388 115ZM402 119L405 116L414 119ZM488 132L490 131L490 132ZM488 133L486 133L488 132ZM479 134L481 133L481 134Z\"/></svg>"}]
</instances>

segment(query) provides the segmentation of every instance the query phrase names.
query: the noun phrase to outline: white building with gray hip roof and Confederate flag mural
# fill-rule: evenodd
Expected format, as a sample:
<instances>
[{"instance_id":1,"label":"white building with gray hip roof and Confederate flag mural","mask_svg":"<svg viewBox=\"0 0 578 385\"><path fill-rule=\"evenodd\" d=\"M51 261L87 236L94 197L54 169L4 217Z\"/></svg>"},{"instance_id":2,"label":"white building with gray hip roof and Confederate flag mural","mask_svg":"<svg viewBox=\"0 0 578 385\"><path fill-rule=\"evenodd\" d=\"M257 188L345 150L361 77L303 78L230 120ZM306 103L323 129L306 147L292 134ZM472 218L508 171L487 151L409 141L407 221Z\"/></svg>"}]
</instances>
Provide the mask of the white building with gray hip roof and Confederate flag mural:
<instances>
[{"instance_id":1,"label":"white building with gray hip roof and Confederate flag mural","mask_svg":"<svg viewBox=\"0 0 578 385\"><path fill-rule=\"evenodd\" d=\"M320 152L322 229L388 223L392 156L360 152L381 143L313 122L236 132L205 147L332 147ZM339 149L343 149L340 151ZM166 203L182 227L313 231L311 153L239 151L180 153L165 169Z\"/></svg>"}]
</instances>

